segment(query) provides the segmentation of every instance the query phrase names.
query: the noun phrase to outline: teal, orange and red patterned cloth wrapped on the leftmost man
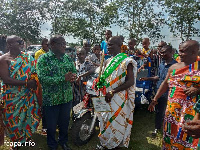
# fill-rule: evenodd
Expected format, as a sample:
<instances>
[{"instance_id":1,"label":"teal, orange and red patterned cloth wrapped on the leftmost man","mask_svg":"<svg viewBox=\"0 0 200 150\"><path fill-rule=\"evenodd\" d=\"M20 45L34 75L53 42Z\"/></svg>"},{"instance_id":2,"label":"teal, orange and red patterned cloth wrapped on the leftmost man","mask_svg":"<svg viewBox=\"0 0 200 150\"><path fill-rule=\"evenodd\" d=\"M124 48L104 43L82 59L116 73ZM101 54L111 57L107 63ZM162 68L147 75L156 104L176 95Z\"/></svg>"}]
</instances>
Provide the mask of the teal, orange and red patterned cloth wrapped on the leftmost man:
<instances>
[{"instance_id":1,"label":"teal, orange and red patterned cloth wrapped on the leftmost man","mask_svg":"<svg viewBox=\"0 0 200 150\"><path fill-rule=\"evenodd\" d=\"M10 77L28 80L35 73L35 60L21 52L9 66ZM25 142L36 131L40 110L34 91L25 86L11 86L2 82L3 118L11 141Z\"/></svg>"}]
</instances>

